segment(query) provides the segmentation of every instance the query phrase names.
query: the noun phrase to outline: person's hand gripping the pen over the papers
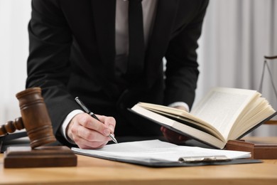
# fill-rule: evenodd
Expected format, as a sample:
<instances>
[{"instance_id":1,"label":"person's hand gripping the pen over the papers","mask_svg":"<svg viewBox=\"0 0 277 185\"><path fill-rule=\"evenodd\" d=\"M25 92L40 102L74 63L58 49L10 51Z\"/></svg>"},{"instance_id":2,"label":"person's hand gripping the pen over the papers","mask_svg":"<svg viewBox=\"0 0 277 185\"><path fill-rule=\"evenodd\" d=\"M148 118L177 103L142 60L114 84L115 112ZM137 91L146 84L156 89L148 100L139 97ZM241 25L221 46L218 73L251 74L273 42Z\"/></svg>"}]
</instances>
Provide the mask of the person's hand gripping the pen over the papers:
<instances>
[{"instance_id":1,"label":"person's hand gripping the pen over the papers","mask_svg":"<svg viewBox=\"0 0 277 185\"><path fill-rule=\"evenodd\" d=\"M109 142L109 134L114 133L114 117L97 115L100 122L87 113L75 115L67 127L67 136L81 149L97 149Z\"/></svg>"}]
</instances>

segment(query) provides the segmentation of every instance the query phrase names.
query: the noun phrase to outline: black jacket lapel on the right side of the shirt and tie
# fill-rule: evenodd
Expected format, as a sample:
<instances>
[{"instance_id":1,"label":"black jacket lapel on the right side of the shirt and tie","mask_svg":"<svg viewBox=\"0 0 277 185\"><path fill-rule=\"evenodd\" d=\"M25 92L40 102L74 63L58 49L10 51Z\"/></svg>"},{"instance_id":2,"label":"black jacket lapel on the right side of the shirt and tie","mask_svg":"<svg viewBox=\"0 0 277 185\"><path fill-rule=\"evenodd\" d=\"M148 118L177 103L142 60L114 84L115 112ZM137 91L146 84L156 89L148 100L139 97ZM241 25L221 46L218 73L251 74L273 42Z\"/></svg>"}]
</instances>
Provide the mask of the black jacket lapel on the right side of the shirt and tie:
<instances>
[{"instance_id":1,"label":"black jacket lapel on the right side of the shirt and tie","mask_svg":"<svg viewBox=\"0 0 277 185\"><path fill-rule=\"evenodd\" d=\"M146 81L151 86L160 73L161 60L170 41L170 33L178 11L179 0L158 0L156 20L146 51Z\"/></svg>"}]
</instances>

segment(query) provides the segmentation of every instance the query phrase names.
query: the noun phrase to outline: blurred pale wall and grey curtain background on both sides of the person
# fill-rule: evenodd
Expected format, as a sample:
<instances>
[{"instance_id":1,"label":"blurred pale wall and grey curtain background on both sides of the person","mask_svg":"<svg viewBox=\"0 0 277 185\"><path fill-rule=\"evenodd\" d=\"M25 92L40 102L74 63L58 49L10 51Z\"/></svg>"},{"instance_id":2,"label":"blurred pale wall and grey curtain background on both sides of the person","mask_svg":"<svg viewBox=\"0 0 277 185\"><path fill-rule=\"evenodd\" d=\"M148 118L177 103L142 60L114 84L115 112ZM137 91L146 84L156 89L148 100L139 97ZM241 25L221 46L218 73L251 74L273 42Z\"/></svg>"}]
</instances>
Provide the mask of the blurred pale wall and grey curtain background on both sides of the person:
<instances>
[{"instance_id":1,"label":"blurred pale wall and grey curtain background on both sides of the person","mask_svg":"<svg viewBox=\"0 0 277 185\"><path fill-rule=\"evenodd\" d=\"M215 86L259 90L264 56L277 56L276 10L275 0L210 0L197 50L195 103ZM15 95L25 89L30 17L31 0L0 0L0 124L20 116ZM277 60L268 65L277 86ZM277 110L268 74L262 94ZM251 134L277 136L277 125L262 125Z\"/></svg>"}]
</instances>

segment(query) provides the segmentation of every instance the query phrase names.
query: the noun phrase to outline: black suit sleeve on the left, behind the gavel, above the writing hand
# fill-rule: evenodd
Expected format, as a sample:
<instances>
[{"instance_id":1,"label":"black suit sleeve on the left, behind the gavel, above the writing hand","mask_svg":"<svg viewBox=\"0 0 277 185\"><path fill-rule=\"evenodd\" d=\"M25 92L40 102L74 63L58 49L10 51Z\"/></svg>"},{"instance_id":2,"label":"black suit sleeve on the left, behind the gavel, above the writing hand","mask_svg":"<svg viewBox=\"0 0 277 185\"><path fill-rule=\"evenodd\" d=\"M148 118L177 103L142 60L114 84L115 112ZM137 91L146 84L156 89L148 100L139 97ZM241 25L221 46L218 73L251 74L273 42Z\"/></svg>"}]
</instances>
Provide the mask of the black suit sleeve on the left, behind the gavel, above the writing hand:
<instances>
[{"instance_id":1,"label":"black suit sleeve on the left, behind the gavel, above the writing hand","mask_svg":"<svg viewBox=\"0 0 277 185\"><path fill-rule=\"evenodd\" d=\"M78 108L66 88L70 78L72 34L61 12L58 1L33 0L28 24L26 88L42 89L56 136L66 115ZM63 142L63 139L58 140Z\"/></svg>"}]
</instances>

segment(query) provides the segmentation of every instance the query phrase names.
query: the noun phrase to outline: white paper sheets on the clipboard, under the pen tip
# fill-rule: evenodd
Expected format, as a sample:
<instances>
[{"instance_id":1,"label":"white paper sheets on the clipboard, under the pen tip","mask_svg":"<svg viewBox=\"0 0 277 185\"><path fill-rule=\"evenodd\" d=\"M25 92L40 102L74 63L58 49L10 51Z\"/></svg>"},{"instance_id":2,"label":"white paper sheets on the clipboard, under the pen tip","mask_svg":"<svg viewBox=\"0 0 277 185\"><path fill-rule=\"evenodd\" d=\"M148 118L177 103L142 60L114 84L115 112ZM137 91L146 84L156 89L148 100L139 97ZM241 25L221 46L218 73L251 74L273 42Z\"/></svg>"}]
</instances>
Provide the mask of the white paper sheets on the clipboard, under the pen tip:
<instances>
[{"instance_id":1,"label":"white paper sheets on the clipboard, under the pen tip","mask_svg":"<svg viewBox=\"0 0 277 185\"><path fill-rule=\"evenodd\" d=\"M239 152L222 149L206 149L201 147L186 147L161 142L158 139L139 142L122 142L108 144L102 149L72 148L77 154L121 162L178 162L180 157L217 157L226 156L229 159L251 157L250 152Z\"/></svg>"}]
</instances>

